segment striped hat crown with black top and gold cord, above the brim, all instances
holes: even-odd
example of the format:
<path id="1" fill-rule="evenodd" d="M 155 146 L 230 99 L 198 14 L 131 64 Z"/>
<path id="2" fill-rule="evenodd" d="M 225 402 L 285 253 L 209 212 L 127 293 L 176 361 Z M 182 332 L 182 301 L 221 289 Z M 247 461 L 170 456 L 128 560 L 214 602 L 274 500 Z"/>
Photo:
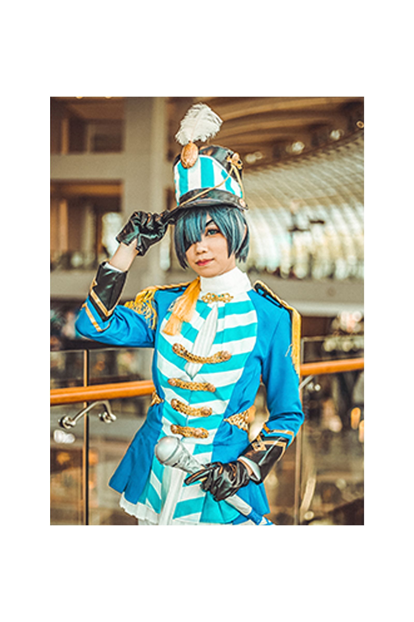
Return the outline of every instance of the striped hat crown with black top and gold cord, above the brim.
<path id="1" fill-rule="evenodd" d="M 241 160 L 224 147 L 202 147 L 197 161 L 184 167 L 174 162 L 177 207 L 227 204 L 246 209 L 241 182 Z"/>

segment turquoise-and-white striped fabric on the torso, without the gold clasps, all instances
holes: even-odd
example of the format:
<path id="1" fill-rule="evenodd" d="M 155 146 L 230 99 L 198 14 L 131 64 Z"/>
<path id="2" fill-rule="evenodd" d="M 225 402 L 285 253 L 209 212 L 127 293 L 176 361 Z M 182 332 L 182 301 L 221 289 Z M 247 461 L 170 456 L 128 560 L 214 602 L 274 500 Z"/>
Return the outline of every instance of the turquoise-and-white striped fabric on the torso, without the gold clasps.
<path id="1" fill-rule="evenodd" d="M 183 323 L 181 333 L 174 336 L 165 335 L 162 330 L 170 315 L 171 313 L 168 313 L 161 324 L 157 348 L 158 379 L 165 400 L 160 438 L 172 435 L 171 424 L 204 428 L 209 433 L 205 439 L 181 438 L 181 435 L 178 437 L 186 445 L 187 450 L 200 463 L 205 464 L 211 462 L 215 433 L 222 423 L 233 389 L 256 343 L 258 326 L 256 310 L 246 292 L 234 295 L 233 300 L 227 303 L 207 304 L 198 300 L 191 322 Z M 201 328 L 208 326 L 211 317 L 215 323 L 215 327 L 210 327 L 209 330 L 211 343 L 205 335 L 201 335 L 201 339 L 197 340 Z M 225 350 L 232 355 L 230 360 L 194 365 L 174 353 L 173 345 L 179 343 L 187 351 L 200 355 L 200 350 L 195 349 L 196 340 L 197 348 L 202 341 L 207 344 L 207 351 L 202 355 L 212 356 Z M 192 371 L 192 375 L 189 374 L 189 370 Z M 215 391 L 192 391 L 171 386 L 168 384 L 169 378 L 210 383 L 215 386 Z M 212 414 L 207 417 L 182 414 L 171 406 L 174 399 L 191 407 L 210 407 Z M 199 483 L 184 485 L 185 477 L 185 473 L 163 466 L 154 458 L 150 478 L 138 504 L 146 506 L 154 514 L 160 514 L 161 509 L 163 513 L 168 511 L 166 508 L 173 498 L 174 511 L 168 524 L 198 524 L 202 514 L 203 524 L 230 522 L 237 516 L 238 513 L 225 501 L 217 503 L 210 495 L 204 493 Z"/>

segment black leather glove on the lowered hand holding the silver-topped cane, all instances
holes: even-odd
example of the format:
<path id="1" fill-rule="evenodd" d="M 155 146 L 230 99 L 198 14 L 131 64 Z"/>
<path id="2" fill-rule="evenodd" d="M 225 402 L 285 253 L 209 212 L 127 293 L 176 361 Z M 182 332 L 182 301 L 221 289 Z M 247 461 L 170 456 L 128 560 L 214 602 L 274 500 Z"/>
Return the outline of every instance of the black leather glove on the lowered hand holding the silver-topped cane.
<path id="1" fill-rule="evenodd" d="M 186 478 L 186 484 L 194 481 L 202 481 L 201 488 L 209 491 L 216 501 L 223 501 L 231 494 L 235 494 L 242 486 L 247 486 L 250 477 L 243 463 L 235 462 L 212 462 L 204 468 Z"/>

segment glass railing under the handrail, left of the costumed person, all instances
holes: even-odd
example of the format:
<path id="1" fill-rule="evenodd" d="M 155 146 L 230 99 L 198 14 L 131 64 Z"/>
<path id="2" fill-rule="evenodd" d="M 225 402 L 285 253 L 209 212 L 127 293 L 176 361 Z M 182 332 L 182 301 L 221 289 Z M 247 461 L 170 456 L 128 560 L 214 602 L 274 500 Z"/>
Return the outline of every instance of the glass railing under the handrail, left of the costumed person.
<path id="1" fill-rule="evenodd" d="M 110 424 L 99 418 L 99 404 L 88 414 L 89 488 L 88 524 L 136 525 L 137 520 L 119 508 L 119 493 L 109 487 L 110 476 L 124 456 L 133 436 L 145 421 L 151 397 L 110 400 L 116 420 Z M 59 421 L 74 418 L 83 403 L 53 406 L 51 409 L 51 524 L 84 524 L 83 441 L 84 417 L 70 430 Z"/>

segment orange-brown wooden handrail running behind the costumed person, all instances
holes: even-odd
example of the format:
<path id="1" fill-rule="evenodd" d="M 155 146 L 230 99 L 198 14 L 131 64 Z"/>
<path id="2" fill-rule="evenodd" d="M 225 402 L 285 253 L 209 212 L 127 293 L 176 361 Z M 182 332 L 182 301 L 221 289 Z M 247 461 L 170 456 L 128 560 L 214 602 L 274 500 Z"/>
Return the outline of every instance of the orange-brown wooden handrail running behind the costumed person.
<path id="1" fill-rule="evenodd" d="M 336 374 L 341 371 L 364 369 L 363 358 L 343 359 L 339 361 L 320 361 L 303 363 L 300 376 L 316 376 L 318 374 Z M 68 387 L 50 390 L 50 406 L 60 404 L 76 404 L 92 402 L 98 399 L 120 399 L 121 397 L 137 397 L 151 395 L 155 386 L 151 380 L 140 380 L 131 383 L 92 384 L 87 387 Z"/>

